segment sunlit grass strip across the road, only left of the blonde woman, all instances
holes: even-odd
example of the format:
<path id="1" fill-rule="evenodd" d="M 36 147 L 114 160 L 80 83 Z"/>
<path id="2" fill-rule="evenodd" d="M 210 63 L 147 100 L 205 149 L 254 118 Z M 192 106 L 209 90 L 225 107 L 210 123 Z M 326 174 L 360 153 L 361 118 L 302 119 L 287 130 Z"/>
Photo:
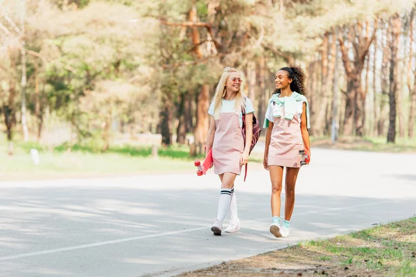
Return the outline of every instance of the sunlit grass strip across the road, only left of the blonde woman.
<path id="1" fill-rule="evenodd" d="M 40 152 L 39 165 L 31 160 L 31 148 Z M 184 146 L 160 148 L 158 157 L 152 157 L 150 147 L 130 145 L 114 146 L 105 153 L 94 145 L 47 148 L 37 143 L 15 143 L 12 156 L 8 156 L 7 149 L 6 143 L 0 145 L 0 179 L 191 172 L 195 170 L 193 161 L 203 159 L 190 157 Z"/>

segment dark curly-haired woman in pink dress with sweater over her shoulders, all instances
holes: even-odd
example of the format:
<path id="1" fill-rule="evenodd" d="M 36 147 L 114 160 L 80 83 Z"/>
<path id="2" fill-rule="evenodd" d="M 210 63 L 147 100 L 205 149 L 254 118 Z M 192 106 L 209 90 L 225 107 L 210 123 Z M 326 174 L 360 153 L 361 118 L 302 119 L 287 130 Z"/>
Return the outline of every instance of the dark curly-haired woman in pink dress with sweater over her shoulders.
<path id="1" fill-rule="evenodd" d="M 309 144 L 309 105 L 305 94 L 305 74 L 299 67 L 283 67 L 275 76 L 276 91 L 268 102 L 263 128 L 267 128 L 263 166 L 272 183 L 272 224 L 276 238 L 289 235 L 289 222 L 295 205 L 295 184 L 304 151 Z M 284 222 L 280 225 L 280 194 L 286 168 Z"/>

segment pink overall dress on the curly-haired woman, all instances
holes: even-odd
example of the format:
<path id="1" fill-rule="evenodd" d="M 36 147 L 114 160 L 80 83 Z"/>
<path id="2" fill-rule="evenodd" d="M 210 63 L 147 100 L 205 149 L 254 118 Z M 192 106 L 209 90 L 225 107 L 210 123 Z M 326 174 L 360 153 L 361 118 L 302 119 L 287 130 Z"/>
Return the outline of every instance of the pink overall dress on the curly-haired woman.
<path id="1" fill-rule="evenodd" d="M 273 118 L 273 129 L 268 150 L 268 166 L 286 166 L 300 168 L 304 150 L 302 132 L 300 132 L 300 116 L 295 113 L 292 120 L 284 118 L 284 107 L 281 117 Z"/>

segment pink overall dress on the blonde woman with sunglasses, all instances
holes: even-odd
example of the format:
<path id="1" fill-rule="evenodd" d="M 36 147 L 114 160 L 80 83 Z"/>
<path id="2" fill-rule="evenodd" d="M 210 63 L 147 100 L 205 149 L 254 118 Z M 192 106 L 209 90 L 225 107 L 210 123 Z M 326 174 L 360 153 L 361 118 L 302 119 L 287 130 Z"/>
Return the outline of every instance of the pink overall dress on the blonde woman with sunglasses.
<path id="1" fill-rule="evenodd" d="M 212 145 L 214 173 L 232 172 L 240 175 L 240 158 L 244 151 L 243 135 L 239 116 L 235 112 L 220 113 L 220 119 L 215 120 L 216 130 Z"/>

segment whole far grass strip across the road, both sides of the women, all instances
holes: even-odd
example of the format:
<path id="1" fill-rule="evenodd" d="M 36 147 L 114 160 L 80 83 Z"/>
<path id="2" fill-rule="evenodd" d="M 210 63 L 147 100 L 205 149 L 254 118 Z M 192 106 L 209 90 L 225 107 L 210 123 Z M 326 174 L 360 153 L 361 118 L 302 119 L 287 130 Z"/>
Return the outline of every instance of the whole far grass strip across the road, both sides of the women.
<path id="1" fill-rule="evenodd" d="M 327 141 L 325 138 L 312 138 L 314 143 Z M 405 152 L 416 151 L 416 140 L 397 139 L 396 145 L 385 144 L 385 139 L 357 139 L 341 138 L 344 146 L 341 149 L 392 151 Z M 345 148 L 345 145 L 351 147 Z M 48 177 L 69 175 L 119 175 L 141 173 L 163 173 L 195 170 L 193 161 L 202 160 L 203 154 L 198 157 L 190 157 L 189 147 L 185 145 L 172 145 L 168 148 L 159 148 L 158 157 L 152 157 L 152 150 L 145 146 L 111 145 L 103 153 L 102 143 L 85 141 L 82 145 L 69 145 L 64 143 L 51 148 L 47 145 L 21 141 L 15 142 L 15 154 L 7 155 L 8 143 L 0 139 L 0 179 L 21 179 L 30 177 Z M 338 146 L 337 146 L 338 147 Z M 40 165 L 35 166 L 31 161 L 30 150 L 35 148 L 40 151 Z M 331 148 L 329 145 L 328 148 Z M 69 151 L 70 150 L 70 151 Z M 262 163 L 263 154 L 254 152 L 249 160 L 253 163 Z M 335 249 L 334 249 L 335 251 Z"/>

